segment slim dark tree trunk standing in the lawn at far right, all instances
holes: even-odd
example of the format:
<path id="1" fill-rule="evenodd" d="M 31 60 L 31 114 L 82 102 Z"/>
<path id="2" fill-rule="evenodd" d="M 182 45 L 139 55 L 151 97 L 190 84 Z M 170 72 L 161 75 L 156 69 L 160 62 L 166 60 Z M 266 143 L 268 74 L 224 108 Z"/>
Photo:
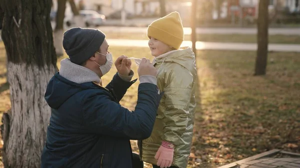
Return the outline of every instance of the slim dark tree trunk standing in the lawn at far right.
<path id="1" fill-rule="evenodd" d="M 254 75 L 265 75 L 268 45 L 268 0 L 259 0 L 257 19 L 257 55 Z"/>

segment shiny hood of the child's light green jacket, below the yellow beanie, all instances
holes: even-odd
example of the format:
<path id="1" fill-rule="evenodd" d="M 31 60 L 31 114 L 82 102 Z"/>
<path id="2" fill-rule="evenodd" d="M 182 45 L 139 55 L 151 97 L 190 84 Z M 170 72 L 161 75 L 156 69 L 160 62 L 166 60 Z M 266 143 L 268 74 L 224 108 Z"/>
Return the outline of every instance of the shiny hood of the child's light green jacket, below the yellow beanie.
<path id="1" fill-rule="evenodd" d="M 155 59 L 156 63 L 175 62 L 186 68 L 193 75 L 196 74 L 195 55 L 190 47 L 180 48 L 179 50 L 165 53 L 164 56 Z"/>

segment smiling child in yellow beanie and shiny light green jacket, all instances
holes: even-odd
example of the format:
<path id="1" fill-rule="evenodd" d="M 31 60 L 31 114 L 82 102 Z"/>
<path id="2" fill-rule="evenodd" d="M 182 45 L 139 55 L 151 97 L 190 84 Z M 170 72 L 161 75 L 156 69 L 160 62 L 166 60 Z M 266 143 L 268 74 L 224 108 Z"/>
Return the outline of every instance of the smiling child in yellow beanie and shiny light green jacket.
<path id="1" fill-rule="evenodd" d="M 138 142 L 141 160 L 153 168 L 186 168 L 193 134 L 197 80 L 191 48 L 179 49 L 183 27 L 178 12 L 153 21 L 147 30 L 163 93 L 151 136 Z"/>

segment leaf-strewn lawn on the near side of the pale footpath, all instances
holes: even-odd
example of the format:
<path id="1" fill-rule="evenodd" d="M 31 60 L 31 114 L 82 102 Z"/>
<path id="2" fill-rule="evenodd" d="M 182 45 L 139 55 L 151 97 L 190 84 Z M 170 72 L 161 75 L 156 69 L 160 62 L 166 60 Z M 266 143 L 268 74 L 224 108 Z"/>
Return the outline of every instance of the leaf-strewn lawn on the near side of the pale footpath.
<path id="1" fill-rule="evenodd" d="M 110 51 L 114 60 L 119 55 L 152 60 L 147 48 L 112 46 Z M 265 76 L 253 76 L 254 61 L 254 51 L 197 51 L 200 87 L 192 153 L 202 164 L 196 166 L 191 158 L 189 168 L 216 168 L 271 149 L 300 152 L 300 53 L 270 52 Z M 3 54 L 0 67 L 1 76 L 6 71 Z M 132 70 L 137 78 L 134 62 Z M 102 77 L 103 85 L 115 72 L 112 67 Z M 5 81 L 5 75 L 0 79 Z M 120 102 L 130 110 L 137 87 L 138 81 Z M 3 112 L 10 106 L 9 90 L 0 95 Z M 136 152 L 135 142 L 131 146 Z"/>

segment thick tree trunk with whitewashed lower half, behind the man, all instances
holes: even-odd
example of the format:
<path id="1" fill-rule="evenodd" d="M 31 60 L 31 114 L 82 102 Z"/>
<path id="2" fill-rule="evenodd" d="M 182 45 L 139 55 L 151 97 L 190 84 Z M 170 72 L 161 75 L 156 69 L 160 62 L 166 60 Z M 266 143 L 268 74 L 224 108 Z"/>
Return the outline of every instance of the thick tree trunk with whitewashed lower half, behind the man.
<path id="1" fill-rule="evenodd" d="M 40 168 L 50 108 L 47 82 L 56 72 L 52 0 L 1 0 L 11 110 L 3 115 L 4 168 Z"/>

